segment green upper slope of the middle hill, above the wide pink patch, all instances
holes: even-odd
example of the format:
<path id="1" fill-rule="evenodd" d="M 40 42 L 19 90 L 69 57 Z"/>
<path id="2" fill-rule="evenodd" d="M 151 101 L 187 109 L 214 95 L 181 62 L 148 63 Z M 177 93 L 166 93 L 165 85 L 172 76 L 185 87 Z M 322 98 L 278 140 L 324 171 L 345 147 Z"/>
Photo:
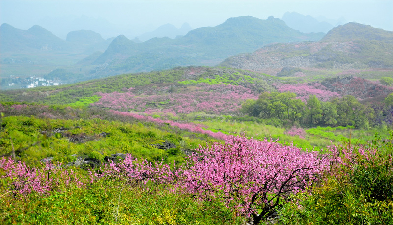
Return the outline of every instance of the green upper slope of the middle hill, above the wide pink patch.
<path id="1" fill-rule="evenodd" d="M 69 104 L 81 98 L 91 97 L 97 92 L 122 92 L 130 87 L 148 84 L 174 83 L 189 79 L 216 78 L 216 75 L 233 75 L 229 79 L 235 81 L 244 76 L 251 76 L 262 80 L 276 79 L 259 73 L 252 73 L 232 68 L 214 67 L 178 67 L 150 73 L 122 74 L 105 79 L 96 79 L 77 84 L 67 84 L 53 87 L 39 87 L 33 89 L 1 91 L 2 101 L 37 102 L 45 104 Z M 221 81 L 219 81 L 221 82 Z M 265 83 L 261 81 L 262 83 Z M 265 85 L 266 86 L 266 85 Z M 267 87 L 266 87 L 267 88 Z"/>

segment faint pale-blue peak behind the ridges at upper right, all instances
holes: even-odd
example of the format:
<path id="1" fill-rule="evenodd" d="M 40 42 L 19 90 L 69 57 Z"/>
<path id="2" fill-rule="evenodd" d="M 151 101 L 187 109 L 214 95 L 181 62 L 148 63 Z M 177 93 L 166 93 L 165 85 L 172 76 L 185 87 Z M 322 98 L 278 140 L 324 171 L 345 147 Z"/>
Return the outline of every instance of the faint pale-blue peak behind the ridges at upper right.
<path id="1" fill-rule="evenodd" d="M 299 30 L 303 33 L 318 33 L 323 32 L 327 33 L 334 26 L 325 21 L 318 21 L 314 17 L 307 15 L 304 16 L 297 12 L 286 12 L 282 16 L 282 20 L 285 21 L 288 27 Z"/>

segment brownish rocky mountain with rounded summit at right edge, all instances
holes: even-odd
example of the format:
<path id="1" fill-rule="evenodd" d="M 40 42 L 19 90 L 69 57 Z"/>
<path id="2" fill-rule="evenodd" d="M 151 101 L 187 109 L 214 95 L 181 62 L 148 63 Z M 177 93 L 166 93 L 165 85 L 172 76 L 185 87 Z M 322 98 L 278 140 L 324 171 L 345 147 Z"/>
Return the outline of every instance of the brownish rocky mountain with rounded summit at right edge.
<path id="1" fill-rule="evenodd" d="M 393 68 L 392 53 L 393 32 L 358 23 L 347 23 L 333 28 L 319 42 L 269 45 L 254 53 L 227 58 L 220 65 L 269 71 L 271 74 L 278 73 L 286 67 Z M 297 71 L 299 70 L 293 70 Z"/>

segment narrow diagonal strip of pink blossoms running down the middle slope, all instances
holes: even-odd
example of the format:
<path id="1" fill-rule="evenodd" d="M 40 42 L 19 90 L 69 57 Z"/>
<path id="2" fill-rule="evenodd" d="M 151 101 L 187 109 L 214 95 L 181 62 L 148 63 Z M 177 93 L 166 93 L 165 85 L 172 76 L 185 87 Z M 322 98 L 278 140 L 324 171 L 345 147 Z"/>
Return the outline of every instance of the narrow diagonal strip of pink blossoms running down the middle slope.
<path id="1" fill-rule="evenodd" d="M 179 122 L 174 122 L 171 120 L 162 120 L 162 119 L 158 119 L 158 118 L 153 118 L 151 116 L 144 116 L 144 115 L 140 115 L 140 114 L 133 113 L 133 112 L 119 112 L 119 111 L 114 111 L 114 110 L 111 110 L 111 112 L 115 115 L 133 117 L 135 119 L 139 119 L 139 120 L 143 120 L 143 121 L 147 121 L 147 122 L 153 122 L 153 123 L 160 124 L 160 125 L 169 124 L 173 127 L 179 128 L 179 129 L 184 129 L 184 130 L 188 130 L 188 131 L 196 132 L 196 133 L 200 133 L 200 134 L 206 134 L 206 135 L 209 135 L 210 137 L 213 137 L 216 139 L 225 139 L 225 137 L 226 137 L 226 135 L 221 132 L 213 132 L 210 130 L 202 129 L 202 127 L 205 127 L 205 126 L 203 126 L 201 124 L 197 125 L 195 123 L 179 123 Z"/>

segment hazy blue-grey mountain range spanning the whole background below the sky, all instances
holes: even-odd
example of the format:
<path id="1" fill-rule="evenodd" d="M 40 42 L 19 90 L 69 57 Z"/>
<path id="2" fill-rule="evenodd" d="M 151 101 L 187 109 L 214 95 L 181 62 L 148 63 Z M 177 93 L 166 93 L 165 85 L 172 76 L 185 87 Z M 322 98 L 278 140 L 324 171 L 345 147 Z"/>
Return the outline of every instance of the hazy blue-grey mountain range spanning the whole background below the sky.
<path id="1" fill-rule="evenodd" d="M 283 19 L 287 21 L 243 16 L 229 18 L 215 27 L 190 31 L 188 24 L 180 29 L 166 24 L 133 40 L 124 35 L 105 40 L 91 30 L 69 32 L 63 40 L 38 25 L 20 30 L 2 24 L 0 75 L 35 73 L 44 76 L 60 68 L 75 75 L 64 81 L 74 82 L 122 73 L 219 63 L 220 66 L 279 75 L 292 71 L 286 68 L 280 73 L 284 67 L 393 67 L 393 32 L 348 23 L 331 29 L 326 35 L 302 28 L 307 31 L 304 33 L 299 31 L 301 26 L 297 27 L 299 30 L 294 29 L 293 24 L 292 28 L 288 26 L 288 20 L 303 21 L 308 28 L 318 27 L 320 20 L 297 13 L 286 13 Z M 37 64 L 40 66 L 35 66 Z M 30 72 L 32 70 L 34 72 Z"/>

